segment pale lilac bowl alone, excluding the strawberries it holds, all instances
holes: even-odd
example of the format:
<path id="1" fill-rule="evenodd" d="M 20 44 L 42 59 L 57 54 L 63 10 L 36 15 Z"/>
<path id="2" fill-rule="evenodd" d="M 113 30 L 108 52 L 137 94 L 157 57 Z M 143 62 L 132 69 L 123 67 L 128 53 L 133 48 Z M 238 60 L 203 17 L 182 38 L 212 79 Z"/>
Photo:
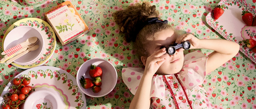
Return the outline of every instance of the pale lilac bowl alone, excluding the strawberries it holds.
<path id="1" fill-rule="evenodd" d="M 81 79 L 81 76 L 92 79 L 89 75 L 91 64 L 97 65 L 102 69 L 102 86 L 100 86 L 102 90 L 98 93 L 94 93 L 92 91 L 92 88 L 89 88 L 89 89 L 83 88 L 81 83 L 79 82 L 79 79 Z M 110 62 L 104 59 L 99 59 L 99 58 L 90 59 L 85 63 L 83 63 L 80 66 L 79 70 L 77 71 L 78 87 L 79 89 L 82 90 L 83 93 L 85 93 L 90 97 L 103 97 L 107 95 L 115 88 L 116 82 L 117 82 L 117 73 L 116 73 L 115 67 Z"/>

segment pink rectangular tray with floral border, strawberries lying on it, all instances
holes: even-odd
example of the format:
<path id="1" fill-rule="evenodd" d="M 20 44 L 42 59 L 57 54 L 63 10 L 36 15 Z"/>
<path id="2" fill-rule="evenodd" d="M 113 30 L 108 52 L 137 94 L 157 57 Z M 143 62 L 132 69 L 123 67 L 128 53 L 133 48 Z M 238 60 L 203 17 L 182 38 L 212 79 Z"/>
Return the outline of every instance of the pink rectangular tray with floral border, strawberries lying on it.
<path id="1" fill-rule="evenodd" d="M 212 31 L 216 30 L 225 39 L 240 44 L 240 51 L 253 62 L 256 62 L 255 53 L 242 42 L 246 39 L 256 40 L 256 27 L 246 26 L 242 20 L 243 11 L 249 11 L 255 16 L 256 10 L 243 0 L 221 0 L 218 4 L 225 5 L 223 15 L 221 15 L 218 20 L 214 20 L 212 10 L 212 12 L 206 16 L 207 24 L 213 28 Z M 246 58 L 244 58 L 243 61 L 245 59 Z"/>

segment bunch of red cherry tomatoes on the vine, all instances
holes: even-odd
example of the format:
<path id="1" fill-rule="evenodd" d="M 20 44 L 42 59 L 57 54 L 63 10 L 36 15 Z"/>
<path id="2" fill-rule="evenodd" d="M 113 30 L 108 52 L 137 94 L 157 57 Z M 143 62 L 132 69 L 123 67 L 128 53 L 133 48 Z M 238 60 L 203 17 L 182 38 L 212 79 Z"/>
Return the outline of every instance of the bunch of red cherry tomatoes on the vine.
<path id="1" fill-rule="evenodd" d="M 30 84 L 29 78 L 22 78 L 22 79 L 15 78 L 13 80 L 13 84 L 15 86 L 12 86 L 12 88 L 15 91 L 13 92 L 13 94 L 9 93 L 9 95 L 11 96 L 11 99 L 8 100 L 7 103 L 2 105 L 3 109 L 19 109 L 19 105 L 25 102 L 24 99 L 29 96 L 29 93 L 32 91 L 35 91 L 35 89 L 32 89 L 32 87 L 29 86 Z"/>

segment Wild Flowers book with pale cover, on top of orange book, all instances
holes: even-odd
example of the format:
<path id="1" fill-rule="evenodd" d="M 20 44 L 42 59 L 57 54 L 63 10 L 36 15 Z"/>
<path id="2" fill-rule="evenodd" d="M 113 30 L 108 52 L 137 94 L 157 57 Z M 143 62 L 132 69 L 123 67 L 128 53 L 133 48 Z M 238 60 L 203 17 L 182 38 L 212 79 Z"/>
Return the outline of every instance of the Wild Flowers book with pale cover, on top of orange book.
<path id="1" fill-rule="evenodd" d="M 84 32 L 67 5 L 47 13 L 46 18 L 62 45 L 68 44 Z"/>

